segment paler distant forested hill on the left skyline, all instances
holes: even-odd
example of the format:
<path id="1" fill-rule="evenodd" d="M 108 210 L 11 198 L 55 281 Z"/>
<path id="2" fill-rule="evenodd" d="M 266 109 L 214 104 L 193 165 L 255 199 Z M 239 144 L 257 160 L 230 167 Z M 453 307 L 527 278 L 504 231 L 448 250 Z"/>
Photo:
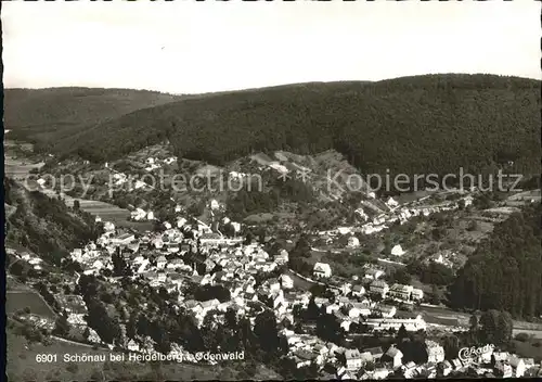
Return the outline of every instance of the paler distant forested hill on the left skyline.
<path id="1" fill-rule="evenodd" d="M 57 141 L 88 126 L 179 97 L 156 91 L 99 88 L 5 89 L 4 126 L 10 138 Z"/>

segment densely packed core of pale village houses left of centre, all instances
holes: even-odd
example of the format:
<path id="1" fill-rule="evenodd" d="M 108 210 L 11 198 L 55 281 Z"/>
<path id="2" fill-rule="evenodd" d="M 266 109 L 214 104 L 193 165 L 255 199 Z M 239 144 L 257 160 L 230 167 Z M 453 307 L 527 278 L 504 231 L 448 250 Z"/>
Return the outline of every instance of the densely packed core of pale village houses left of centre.
<path id="1" fill-rule="evenodd" d="M 204 226 L 190 227 L 192 234 L 189 239 L 185 237 L 189 227 L 185 219 L 180 225 L 182 228 L 173 228 L 167 222 L 164 226 L 166 230 L 163 232 L 147 232 L 136 239 L 133 233 L 119 234 L 113 225 L 106 224 L 104 234 L 95 242 L 74 250 L 72 258 L 81 265 L 86 275 L 102 273 L 104 269 L 114 269 L 112 256 L 119 253 L 131 268 L 133 278 L 146 280 L 152 286 L 164 286 L 169 292 L 180 291 L 186 283 L 227 288 L 232 300 L 224 304 L 214 300 L 191 302 L 179 296 L 180 306 L 192 310 L 198 322 L 209 310 L 224 310 L 229 306 L 250 310 L 246 303 L 261 305 L 269 298 L 270 308 L 275 310 L 278 319 L 293 320 L 283 293 L 293 288 L 293 280 L 287 275 L 268 280 L 259 290 L 254 290 L 257 273 L 272 272 L 288 262 L 285 250 L 271 258 L 259 243 L 243 245 L 243 238 L 224 238 L 209 232 Z M 185 264 L 182 257 L 186 253 L 194 254 L 198 263 Z M 116 282 L 114 277 L 109 280 Z"/>

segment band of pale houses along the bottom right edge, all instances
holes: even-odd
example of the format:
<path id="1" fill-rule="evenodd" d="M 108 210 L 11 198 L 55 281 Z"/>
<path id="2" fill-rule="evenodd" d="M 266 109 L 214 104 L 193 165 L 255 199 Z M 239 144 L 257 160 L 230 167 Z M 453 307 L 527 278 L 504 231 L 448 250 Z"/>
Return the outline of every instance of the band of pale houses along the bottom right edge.
<path id="1" fill-rule="evenodd" d="M 288 345 L 288 356 L 297 368 L 315 365 L 319 370 L 339 380 L 383 380 L 390 378 L 442 378 L 480 375 L 486 378 L 521 378 L 542 375 L 540 365 L 532 358 L 520 358 L 505 352 L 493 352 L 485 346 L 475 357 L 446 359 L 444 348 L 436 341 L 425 341 L 427 359 L 416 364 L 403 361 L 404 354 L 397 344 L 386 352 L 382 347 L 345 348 L 310 334 L 297 334 L 283 329 L 280 332 Z"/>

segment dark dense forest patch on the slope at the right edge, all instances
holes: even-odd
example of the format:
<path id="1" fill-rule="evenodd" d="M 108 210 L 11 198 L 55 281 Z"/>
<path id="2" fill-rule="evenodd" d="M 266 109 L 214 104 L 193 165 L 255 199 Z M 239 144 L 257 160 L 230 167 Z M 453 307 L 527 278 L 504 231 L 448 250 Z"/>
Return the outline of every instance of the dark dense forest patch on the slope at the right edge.
<path id="1" fill-rule="evenodd" d="M 542 315 L 541 204 L 495 227 L 450 288 L 454 307 Z"/>

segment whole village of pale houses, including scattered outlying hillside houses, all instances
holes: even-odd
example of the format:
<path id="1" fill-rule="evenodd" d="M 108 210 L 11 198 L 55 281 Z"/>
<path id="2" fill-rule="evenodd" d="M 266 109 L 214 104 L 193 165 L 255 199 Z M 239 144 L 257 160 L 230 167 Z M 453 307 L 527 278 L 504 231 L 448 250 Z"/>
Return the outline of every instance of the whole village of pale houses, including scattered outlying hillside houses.
<path id="1" fill-rule="evenodd" d="M 172 162 L 175 157 L 170 156 L 165 160 L 147 157 L 145 171 Z M 107 163 L 104 167 L 112 170 Z M 113 173 L 115 186 L 129 182 L 126 174 Z M 246 175 L 232 171 L 230 176 Z M 43 186 L 43 182 L 38 183 Z M 141 189 L 147 187 L 145 184 L 137 181 L 132 188 Z M 453 198 L 443 198 L 440 193 L 399 202 L 392 196 L 380 200 L 370 192 L 354 208 L 354 225 L 310 232 L 310 250 L 331 250 L 339 256 L 349 256 L 349 252 L 360 247 L 360 238 L 378 235 L 414 218 L 429 219 L 439 213 L 472 206 L 477 190 L 448 194 Z M 76 277 L 63 275 L 65 288 L 59 291 L 49 285 L 56 291 L 52 291 L 56 310 L 64 313 L 67 324 L 83 333 L 83 342 L 147 355 L 163 352 L 149 335 L 127 335 L 126 319 L 120 321 L 120 341 L 104 341 L 89 327 L 89 309 L 82 296 L 75 292 L 80 277 L 94 277 L 105 289 L 118 290 L 126 282 L 132 282 L 141 290 L 165 291 L 168 297 L 175 296 L 168 298 L 169 306 L 175 311 L 188 311 L 198 328 L 209 319 L 222 322 L 228 311 L 247 318 L 254 328 L 258 315 L 271 313 L 284 344 L 285 359 L 299 370 L 317 370 L 319 379 L 410 379 L 450 374 L 509 378 L 540 372 L 540 365 L 534 359 L 500 352 L 489 346 L 491 344 L 476 357 L 460 357 L 459 354 L 450 357 L 442 339 L 468 329 L 457 322 L 428 320 L 422 308 L 431 304 L 422 289 L 387 281 L 390 275 L 386 265 L 404 266 L 404 258 L 411 255 L 399 244 L 380 253 L 377 264 L 364 264 L 350 278 L 336 275 L 333 264 L 325 259 L 313 262 L 310 271 L 301 275 L 292 267 L 288 251 L 293 245 L 270 247 L 264 238 L 257 240 L 246 235 L 245 224 L 225 217 L 224 206 L 217 200 L 210 200 L 207 206 L 212 220 L 209 224 L 191 216 L 180 204 L 171 211 L 175 218 L 169 221 L 160 221 L 151 206 L 133 207 L 129 219 L 153 222 L 153 230 L 117 227 L 95 217 L 103 232 L 96 240 L 70 253 L 69 263 L 77 269 Z M 283 229 L 287 232 L 288 227 Z M 293 244 L 291 240 L 289 243 Z M 35 272 L 43 272 L 38 256 L 13 255 L 26 262 Z M 456 267 L 455 256 L 453 251 L 439 252 L 427 262 L 453 268 Z M 199 295 L 208 298 L 186 294 L 190 289 L 204 290 Z M 146 303 L 141 308 L 145 309 Z M 20 318 L 48 331 L 55 328 L 54 321 L 33 314 L 22 314 Z M 422 357 L 410 354 L 417 351 L 405 349 L 401 342 L 405 335 L 412 340 L 420 334 L 423 338 L 416 343 L 422 348 Z M 193 359 L 181 344 L 171 343 L 168 351 L 171 357 Z"/>

